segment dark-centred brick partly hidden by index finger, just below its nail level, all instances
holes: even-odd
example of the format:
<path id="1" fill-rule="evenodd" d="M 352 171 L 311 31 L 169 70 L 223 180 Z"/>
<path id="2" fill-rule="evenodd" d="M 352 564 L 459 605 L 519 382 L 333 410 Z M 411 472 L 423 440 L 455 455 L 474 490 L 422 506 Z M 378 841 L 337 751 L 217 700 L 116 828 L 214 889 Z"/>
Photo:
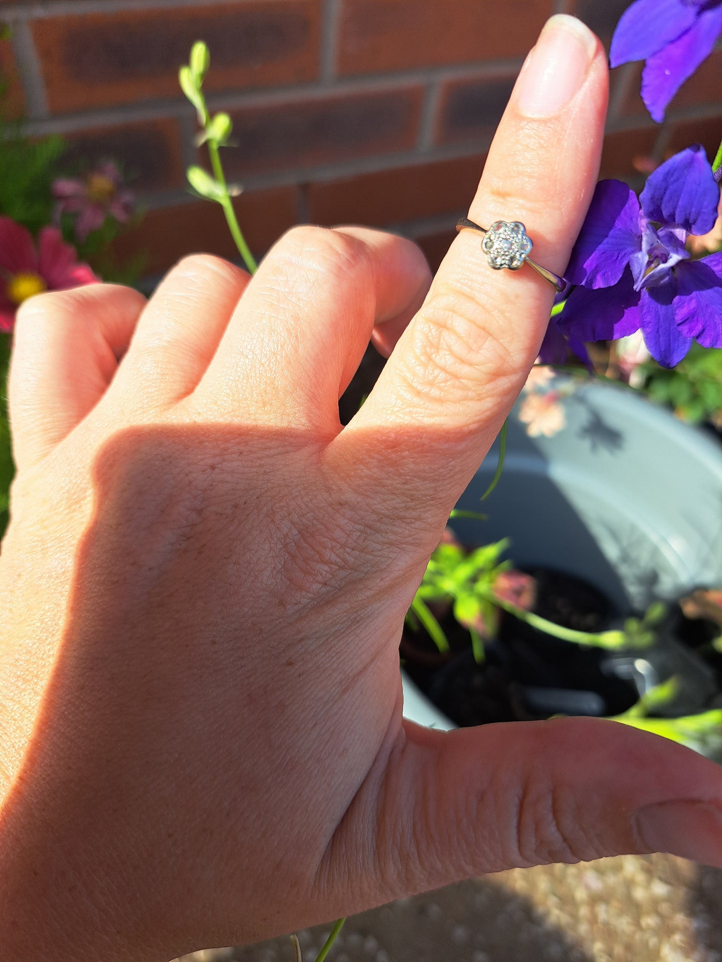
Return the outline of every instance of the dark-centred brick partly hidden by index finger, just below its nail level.
<path id="1" fill-rule="evenodd" d="M 451 80 L 442 90 L 436 141 L 488 139 L 497 129 L 516 77 Z"/>

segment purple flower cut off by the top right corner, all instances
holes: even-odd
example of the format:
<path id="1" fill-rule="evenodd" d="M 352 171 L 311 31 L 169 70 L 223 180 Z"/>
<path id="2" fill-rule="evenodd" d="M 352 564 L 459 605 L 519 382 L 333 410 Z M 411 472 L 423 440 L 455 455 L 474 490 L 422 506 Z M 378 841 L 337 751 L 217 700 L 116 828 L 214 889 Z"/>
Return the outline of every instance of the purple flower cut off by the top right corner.
<path id="1" fill-rule="evenodd" d="M 722 34 L 722 0 L 636 0 L 611 41 L 612 66 L 643 60 L 642 100 L 661 123 L 684 81 Z"/>

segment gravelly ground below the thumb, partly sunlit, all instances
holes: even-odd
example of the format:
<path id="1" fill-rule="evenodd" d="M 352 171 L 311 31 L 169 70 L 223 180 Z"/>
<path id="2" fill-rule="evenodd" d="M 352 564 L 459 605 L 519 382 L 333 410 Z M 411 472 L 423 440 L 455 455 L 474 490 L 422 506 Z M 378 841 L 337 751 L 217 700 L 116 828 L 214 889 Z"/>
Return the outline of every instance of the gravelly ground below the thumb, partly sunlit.
<path id="1" fill-rule="evenodd" d="M 314 962 L 328 932 L 298 933 Z M 183 962 L 293 962 L 288 939 Z M 349 919 L 328 962 L 722 962 L 722 872 L 668 855 L 515 870 Z"/>

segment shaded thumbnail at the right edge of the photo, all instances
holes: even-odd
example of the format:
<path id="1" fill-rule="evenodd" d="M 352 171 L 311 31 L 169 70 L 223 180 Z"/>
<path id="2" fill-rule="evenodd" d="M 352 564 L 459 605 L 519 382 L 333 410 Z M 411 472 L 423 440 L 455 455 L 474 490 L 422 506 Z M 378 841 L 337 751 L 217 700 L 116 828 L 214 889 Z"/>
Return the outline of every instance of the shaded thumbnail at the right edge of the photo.
<path id="1" fill-rule="evenodd" d="M 649 851 L 668 851 L 700 865 L 722 868 L 722 812 L 704 801 L 664 801 L 636 813 Z"/>

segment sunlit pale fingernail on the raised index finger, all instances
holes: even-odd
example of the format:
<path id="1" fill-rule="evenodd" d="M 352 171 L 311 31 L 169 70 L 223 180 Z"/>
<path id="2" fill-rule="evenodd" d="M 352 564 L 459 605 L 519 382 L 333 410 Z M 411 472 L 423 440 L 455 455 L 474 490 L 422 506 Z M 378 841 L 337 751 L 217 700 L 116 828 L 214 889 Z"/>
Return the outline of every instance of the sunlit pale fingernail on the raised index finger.
<path id="1" fill-rule="evenodd" d="M 519 111 L 539 119 L 559 114 L 581 89 L 597 42 L 576 16 L 548 20 L 517 82 Z"/>

